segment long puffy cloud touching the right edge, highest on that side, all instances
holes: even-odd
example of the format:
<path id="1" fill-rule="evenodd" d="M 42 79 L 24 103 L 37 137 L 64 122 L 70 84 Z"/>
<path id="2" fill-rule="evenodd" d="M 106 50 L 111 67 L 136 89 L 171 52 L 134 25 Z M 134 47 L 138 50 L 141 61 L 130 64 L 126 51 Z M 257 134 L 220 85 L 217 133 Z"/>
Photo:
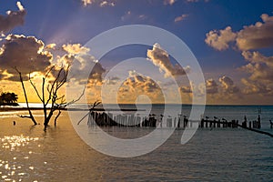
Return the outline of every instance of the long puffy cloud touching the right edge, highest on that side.
<path id="1" fill-rule="evenodd" d="M 230 26 L 210 31 L 205 42 L 217 50 L 226 50 L 230 43 L 236 43 L 241 51 L 270 47 L 273 45 L 273 16 L 263 14 L 260 17 L 263 22 L 245 25 L 238 32 L 232 32 Z"/>

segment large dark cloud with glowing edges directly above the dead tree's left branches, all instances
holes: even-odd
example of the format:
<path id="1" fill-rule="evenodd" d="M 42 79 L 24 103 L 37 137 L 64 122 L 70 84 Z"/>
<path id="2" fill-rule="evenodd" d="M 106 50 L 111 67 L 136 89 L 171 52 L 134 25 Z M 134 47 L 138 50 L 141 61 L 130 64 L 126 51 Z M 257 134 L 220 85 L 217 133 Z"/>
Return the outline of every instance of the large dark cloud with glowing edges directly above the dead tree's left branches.
<path id="1" fill-rule="evenodd" d="M 44 72 L 53 58 L 44 48 L 43 41 L 34 36 L 7 35 L 0 51 L 1 72 L 16 74 L 15 66 L 22 74 Z"/>

